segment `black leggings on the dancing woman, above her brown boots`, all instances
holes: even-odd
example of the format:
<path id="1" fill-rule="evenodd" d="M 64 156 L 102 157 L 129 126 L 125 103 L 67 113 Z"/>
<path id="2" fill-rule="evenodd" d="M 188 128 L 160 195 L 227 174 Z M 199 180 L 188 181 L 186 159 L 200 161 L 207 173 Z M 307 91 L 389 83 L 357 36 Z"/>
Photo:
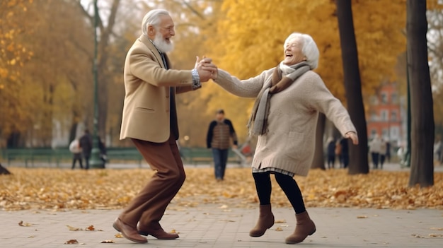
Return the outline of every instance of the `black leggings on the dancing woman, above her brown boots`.
<path id="1" fill-rule="evenodd" d="M 280 188 L 282 188 L 284 194 L 286 194 L 287 199 L 289 199 L 295 213 L 303 213 L 306 211 L 303 196 L 301 196 L 299 185 L 295 182 L 294 178 L 279 172 L 273 172 L 273 174 Z M 270 172 L 258 172 L 252 175 L 254 177 L 255 189 L 257 189 L 260 205 L 270 204 L 272 191 Z"/>

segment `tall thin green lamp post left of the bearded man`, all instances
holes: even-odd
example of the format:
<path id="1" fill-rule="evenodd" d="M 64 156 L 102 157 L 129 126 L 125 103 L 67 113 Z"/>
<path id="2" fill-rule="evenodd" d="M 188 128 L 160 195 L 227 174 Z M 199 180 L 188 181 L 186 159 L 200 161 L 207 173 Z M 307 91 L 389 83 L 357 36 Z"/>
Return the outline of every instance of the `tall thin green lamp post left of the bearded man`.
<path id="1" fill-rule="evenodd" d="M 103 168 L 103 161 L 100 159 L 100 148 L 98 148 L 98 71 L 97 71 L 97 28 L 98 28 L 98 7 L 97 0 L 93 0 L 94 5 L 94 59 L 93 59 L 93 80 L 94 80 L 94 118 L 93 136 L 91 150 L 91 168 Z"/>

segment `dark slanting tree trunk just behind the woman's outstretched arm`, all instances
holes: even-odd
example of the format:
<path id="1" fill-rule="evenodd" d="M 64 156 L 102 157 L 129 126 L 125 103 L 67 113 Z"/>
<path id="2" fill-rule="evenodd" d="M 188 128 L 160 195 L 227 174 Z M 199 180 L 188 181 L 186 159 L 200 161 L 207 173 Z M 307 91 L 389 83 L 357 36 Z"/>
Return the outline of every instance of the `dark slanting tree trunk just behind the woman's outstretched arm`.
<path id="1" fill-rule="evenodd" d="M 347 110 L 352 123 L 357 129 L 358 146 L 350 146 L 350 163 L 348 173 L 367 174 L 369 172 L 367 157 L 367 129 L 364 117 L 362 85 L 360 81 L 357 43 L 355 42 L 354 23 L 352 20 L 351 0 L 336 0 L 340 46 L 342 49 L 343 76 L 347 99 Z"/>

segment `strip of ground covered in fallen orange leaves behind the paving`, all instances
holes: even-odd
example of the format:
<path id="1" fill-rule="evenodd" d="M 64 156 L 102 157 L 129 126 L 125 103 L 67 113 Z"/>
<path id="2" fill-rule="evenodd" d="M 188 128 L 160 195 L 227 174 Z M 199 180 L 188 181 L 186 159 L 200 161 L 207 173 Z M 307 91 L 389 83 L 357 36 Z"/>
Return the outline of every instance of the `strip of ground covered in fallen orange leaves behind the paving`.
<path id="1" fill-rule="evenodd" d="M 93 209 L 124 208 L 154 172 L 131 170 L 67 170 L 10 168 L 0 175 L 0 208 Z M 221 203 L 255 208 L 258 199 L 250 168 L 228 168 L 216 182 L 212 168 L 185 168 L 186 181 L 169 208 Z M 347 175 L 346 170 L 311 170 L 295 177 L 308 207 L 439 208 L 443 209 L 443 173 L 435 172 L 433 187 L 408 187 L 408 172 L 372 171 Z M 272 204 L 289 207 L 272 177 Z"/>

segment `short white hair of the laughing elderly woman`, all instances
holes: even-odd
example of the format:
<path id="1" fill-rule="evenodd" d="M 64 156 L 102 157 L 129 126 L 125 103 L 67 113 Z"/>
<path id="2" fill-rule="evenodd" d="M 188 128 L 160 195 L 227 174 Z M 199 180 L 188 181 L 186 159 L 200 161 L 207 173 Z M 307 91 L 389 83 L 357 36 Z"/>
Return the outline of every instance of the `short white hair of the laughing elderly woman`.
<path id="1" fill-rule="evenodd" d="M 302 33 L 292 33 L 286 40 L 284 40 L 283 49 L 286 49 L 287 44 L 291 40 L 297 40 L 301 42 L 301 53 L 306 57 L 306 63 L 309 64 L 311 70 L 316 69 L 318 66 L 318 47 L 316 42 L 313 41 L 311 35 L 306 35 Z"/>

